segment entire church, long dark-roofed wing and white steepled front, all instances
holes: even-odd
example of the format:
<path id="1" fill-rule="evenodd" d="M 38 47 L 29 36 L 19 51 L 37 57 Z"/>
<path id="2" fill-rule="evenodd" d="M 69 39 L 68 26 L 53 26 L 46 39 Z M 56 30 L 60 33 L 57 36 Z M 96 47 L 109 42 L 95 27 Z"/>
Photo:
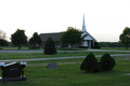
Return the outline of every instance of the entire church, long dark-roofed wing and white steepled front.
<path id="1" fill-rule="evenodd" d="M 39 35 L 40 35 L 40 38 L 42 40 L 41 46 L 44 46 L 47 39 L 49 37 L 51 37 L 53 39 L 53 41 L 55 42 L 55 47 L 56 48 L 60 48 L 60 47 L 70 47 L 69 45 L 65 46 L 65 45 L 62 45 L 60 43 L 60 39 L 61 39 L 62 33 L 63 32 L 40 33 Z M 82 46 L 82 47 L 91 48 L 92 46 L 94 46 L 94 42 L 96 42 L 96 40 L 86 29 L 84 15 L 83 15 L 83 24 L 82 24 L 82 30 L 81 30 L 81 38 L 83 38 L 83 41 L 81 42 L 81 44 L 80 45 L 76 44 L 76 45 L 74 45 L 74 47 Z"/>

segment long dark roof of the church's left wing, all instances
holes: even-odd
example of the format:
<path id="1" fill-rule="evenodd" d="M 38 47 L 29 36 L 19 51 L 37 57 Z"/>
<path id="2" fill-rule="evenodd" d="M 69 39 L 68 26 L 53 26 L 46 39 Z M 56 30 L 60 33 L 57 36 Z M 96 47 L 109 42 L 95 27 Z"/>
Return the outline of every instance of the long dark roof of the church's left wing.
<path id="1" fill-rule="evenodd" d="M 63 32 L 41 33 L 39 34 L 39 37 L 41 38 L 42 41 L 47 41 L 49 37 L 51 37 L 53 41 L 60 41 L 62 34 Z"/>

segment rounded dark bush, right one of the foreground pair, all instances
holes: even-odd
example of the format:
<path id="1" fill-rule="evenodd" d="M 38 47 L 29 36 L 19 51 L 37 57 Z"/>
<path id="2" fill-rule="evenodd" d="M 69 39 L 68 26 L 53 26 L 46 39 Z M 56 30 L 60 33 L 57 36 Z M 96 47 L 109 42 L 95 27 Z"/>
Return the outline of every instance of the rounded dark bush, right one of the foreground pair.
<path id="1" fill-rule="evenodd" d="M 115 59 L 109 55 L 109 54 L 104 54 L 101 58 L 101 61 L 107 62 L 107 64 L 105 66 L 105 69 L 112 70 L 114 68 L 115 63 Z"/>

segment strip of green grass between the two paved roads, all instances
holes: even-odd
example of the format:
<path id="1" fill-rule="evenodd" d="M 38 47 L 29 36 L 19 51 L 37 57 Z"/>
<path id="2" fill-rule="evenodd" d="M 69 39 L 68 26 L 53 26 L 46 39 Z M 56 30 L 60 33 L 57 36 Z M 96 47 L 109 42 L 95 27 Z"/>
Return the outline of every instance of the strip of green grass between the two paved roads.
<path id="1" fill-rule="evenodd" d="M 0 60 L 3 59 L 26 59 L 26 58 L 54 58 L 54 57 L 74 57 L 74 56 L 87 56 L 90 52 L 74 52 L 74 53 L 57 53 L 55 55 L 44 55 L 43 53 L 34 53 L 34 54 L 0 54 Z M 93 52 L 94 55 L 103 55 L 107 52 Z M 118 53 L 109 52 L 108 54 L 128 54 L 128 53 Z"/>

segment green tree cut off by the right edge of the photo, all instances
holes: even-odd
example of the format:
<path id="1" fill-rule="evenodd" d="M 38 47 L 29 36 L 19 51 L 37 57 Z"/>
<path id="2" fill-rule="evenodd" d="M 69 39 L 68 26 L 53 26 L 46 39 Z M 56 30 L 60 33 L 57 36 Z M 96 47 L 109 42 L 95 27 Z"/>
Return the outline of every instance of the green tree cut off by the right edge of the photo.
<path id="1" fill-rule="evenodd" d="M 126 45 L 128 49 L 128 44 L 130 44 L 130 28 L 126 27 L 122 33 L 119 35 L 119 41 Z"/>

